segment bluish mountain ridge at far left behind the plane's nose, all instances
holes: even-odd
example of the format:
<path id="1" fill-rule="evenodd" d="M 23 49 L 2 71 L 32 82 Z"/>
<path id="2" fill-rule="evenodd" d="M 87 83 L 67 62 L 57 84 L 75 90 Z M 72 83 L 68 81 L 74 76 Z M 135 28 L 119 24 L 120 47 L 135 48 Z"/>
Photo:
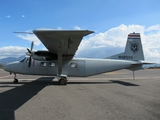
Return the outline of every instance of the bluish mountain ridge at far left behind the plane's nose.
<path id="1" fill-rule="evenodd" d="M 6 65 L 7 63 L 13 62 L 13 61 L 19 61 L 22 60 L 25 56 L 20 56 L 18 58 L 16 57 L 7 57 L 7 58 L 3 58 L 0 59 L 0 64 L 1 65 Z"/>

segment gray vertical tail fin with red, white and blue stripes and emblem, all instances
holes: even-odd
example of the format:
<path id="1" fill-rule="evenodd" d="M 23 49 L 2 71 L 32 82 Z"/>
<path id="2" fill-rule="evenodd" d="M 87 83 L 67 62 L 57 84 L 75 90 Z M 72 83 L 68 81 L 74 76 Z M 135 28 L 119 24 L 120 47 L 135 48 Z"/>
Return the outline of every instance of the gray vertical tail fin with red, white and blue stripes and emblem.
<path id="1" fill-rule="evenodd" d="M 144 60 L 140 33 L 128 34 L 125 51 L 123 53 L 107 57 L 107 59 L 122 59 L 134 61 Z"/>

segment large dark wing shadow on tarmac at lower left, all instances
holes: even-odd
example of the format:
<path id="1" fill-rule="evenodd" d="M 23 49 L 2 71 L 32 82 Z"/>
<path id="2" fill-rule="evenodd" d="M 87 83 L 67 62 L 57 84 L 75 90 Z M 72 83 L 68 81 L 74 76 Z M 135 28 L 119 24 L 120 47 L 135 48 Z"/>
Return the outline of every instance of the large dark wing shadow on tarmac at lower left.
<path id="1" fill-rule="evenodd" d="M 21 86 L 14 86 L 15 88 L 0 93 L 0 120 L 15 120 L 14 112 L 39 91 L 46 87 L 54 78 L 41 77 L 32 82 L 19 82 Z M 0 84 L 10 84 L 8 82 L 0 82 Z M 2 86 L 2 87 L 5 87 Z M 10 86 L 6 86 L 10 87 Z"/>

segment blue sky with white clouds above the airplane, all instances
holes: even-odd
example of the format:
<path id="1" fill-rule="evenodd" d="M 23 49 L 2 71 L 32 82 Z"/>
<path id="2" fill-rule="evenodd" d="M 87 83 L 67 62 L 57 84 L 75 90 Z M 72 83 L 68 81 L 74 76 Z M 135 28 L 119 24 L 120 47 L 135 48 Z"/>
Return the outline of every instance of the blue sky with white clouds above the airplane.
<path id="1" fill-rule="evenodd" d="M 104 58 L 124 51 L 127 35 L 140 33 L 146 61 L 160 63 L 159 0 L 0 0 L 0 59 L 46 50 L 35 29 L 92 30 L 75 57 Z"/>

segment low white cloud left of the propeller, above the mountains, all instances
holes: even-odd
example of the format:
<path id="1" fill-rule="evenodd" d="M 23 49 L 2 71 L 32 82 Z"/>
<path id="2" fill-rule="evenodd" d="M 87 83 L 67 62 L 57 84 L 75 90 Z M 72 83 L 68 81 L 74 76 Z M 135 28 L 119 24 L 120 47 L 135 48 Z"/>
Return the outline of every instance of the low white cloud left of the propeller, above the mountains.
<path id="1" fill-rule="evenodd" d="M 0 59 L 6 57 L 20 57 L 25 55 L 27 52 L 26 48 L 19 46 L 5 46 L 0 48 Z"/>

